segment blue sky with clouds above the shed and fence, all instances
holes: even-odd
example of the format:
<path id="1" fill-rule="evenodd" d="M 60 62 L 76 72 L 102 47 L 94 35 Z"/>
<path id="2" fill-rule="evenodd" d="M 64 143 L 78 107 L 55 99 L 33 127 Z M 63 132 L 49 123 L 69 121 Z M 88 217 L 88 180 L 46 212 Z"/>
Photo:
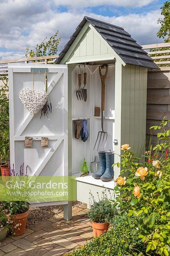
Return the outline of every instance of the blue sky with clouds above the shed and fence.
<path id="1" fill-rule="evenodd" d="M 59 30 L 58 54 L 84 16 L 123 27 L 140 45 L 157 37 L 163 0 L 0 0 L 0 60 L 24 58 Z"/>

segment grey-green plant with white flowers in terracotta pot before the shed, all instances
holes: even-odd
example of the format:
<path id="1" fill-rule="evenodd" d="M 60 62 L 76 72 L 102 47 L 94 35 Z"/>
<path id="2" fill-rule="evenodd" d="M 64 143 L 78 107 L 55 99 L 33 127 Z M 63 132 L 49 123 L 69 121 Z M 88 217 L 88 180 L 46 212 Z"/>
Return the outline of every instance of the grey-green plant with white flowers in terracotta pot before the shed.
<path id="1" fill-rule="evenodd" d="M 98 194 L 98 201 L 94 199 L 90 191 L 90 210 L 87 216 L 90 218 L 93 228 L 93 235 L 100 236 L 106 232 L 109 228 L 109 221 L 113 219 L 116 214 L 115 210 L 110 204 L 110 200 L 107 197 L 107 190 L 103 189 L 101 192 L 101 197 Z"/>

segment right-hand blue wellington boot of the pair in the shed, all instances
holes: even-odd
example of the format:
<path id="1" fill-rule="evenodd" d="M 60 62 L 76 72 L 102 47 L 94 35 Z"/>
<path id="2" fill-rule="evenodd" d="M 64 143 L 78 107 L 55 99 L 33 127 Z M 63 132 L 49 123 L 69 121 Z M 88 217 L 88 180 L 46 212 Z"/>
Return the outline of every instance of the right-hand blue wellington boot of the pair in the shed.
<path id="1" fill-rule="evenodd" d="M 109 181 L 114 177 L 114 170 L 113 170 L 112 164 L 114 164 L 114 153 L 108 152 L 106 153 L 106 171 L 100 177 L 100 180 Z"/>

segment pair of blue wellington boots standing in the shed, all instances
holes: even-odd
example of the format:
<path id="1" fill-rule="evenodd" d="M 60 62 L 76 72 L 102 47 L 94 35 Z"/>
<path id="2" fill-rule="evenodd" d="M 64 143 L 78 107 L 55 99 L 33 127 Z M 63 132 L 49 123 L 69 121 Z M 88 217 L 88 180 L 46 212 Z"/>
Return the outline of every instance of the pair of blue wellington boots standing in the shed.
<path id="1" fill-rule="evenodd" d="M 112 165 L 114 164 L 114 152 L 101 151 L 99 152 L 100 169 L 97 173 L 92 175 L 95 179 L 102 181 L 109 181 L 114 177 L 114 170 Z"/>

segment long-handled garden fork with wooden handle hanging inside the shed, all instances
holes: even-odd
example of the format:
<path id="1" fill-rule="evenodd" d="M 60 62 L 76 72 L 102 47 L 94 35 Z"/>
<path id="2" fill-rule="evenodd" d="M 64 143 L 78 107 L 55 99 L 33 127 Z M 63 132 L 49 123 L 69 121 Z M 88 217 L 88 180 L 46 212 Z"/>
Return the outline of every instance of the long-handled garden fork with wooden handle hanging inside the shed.
<path id="1" fill-rule="evenodd" d="M 103 68 L 106 68 L 105 75 L 101 74 L 101 69 L 103 69 Z M 105 144 L 104 144 L 104 148 L 105 148 L 106 142 L 107 142 L 107 137 L 108 137 L 108 132 L 105 132 L 105 130 L 104 130 L 105 81 L 106 81 L 107 73 L 108 73 L 108 65 L 107 64 L 103 64 L 102 66 L 99 66 L 99 74 L 100 74 L 100 78 L 101 78 L 101 129 L 102 129 L 102 131 L 98 132 L 97 140 L 96 140 L 94 148 L 93 148 L 93 150 L 94 150 L 96 147 L 97 141 L 100 137 L 97 151 L 98 151 L 99 147 L 100 147 L 100 151 L 101 151 L 101 148 L 102 148 L 104 142 L 105 142 Z M 103 139 L 102 139 L 102 135 L 103 135 Z M 102 140 L 102 142 L 101 142 L 101 140 Z M 101 142 L 101 146 L 100 146 L 100 142 Z M 104 150 L 104 148 L 103 148 L 103 150 Z"/>

